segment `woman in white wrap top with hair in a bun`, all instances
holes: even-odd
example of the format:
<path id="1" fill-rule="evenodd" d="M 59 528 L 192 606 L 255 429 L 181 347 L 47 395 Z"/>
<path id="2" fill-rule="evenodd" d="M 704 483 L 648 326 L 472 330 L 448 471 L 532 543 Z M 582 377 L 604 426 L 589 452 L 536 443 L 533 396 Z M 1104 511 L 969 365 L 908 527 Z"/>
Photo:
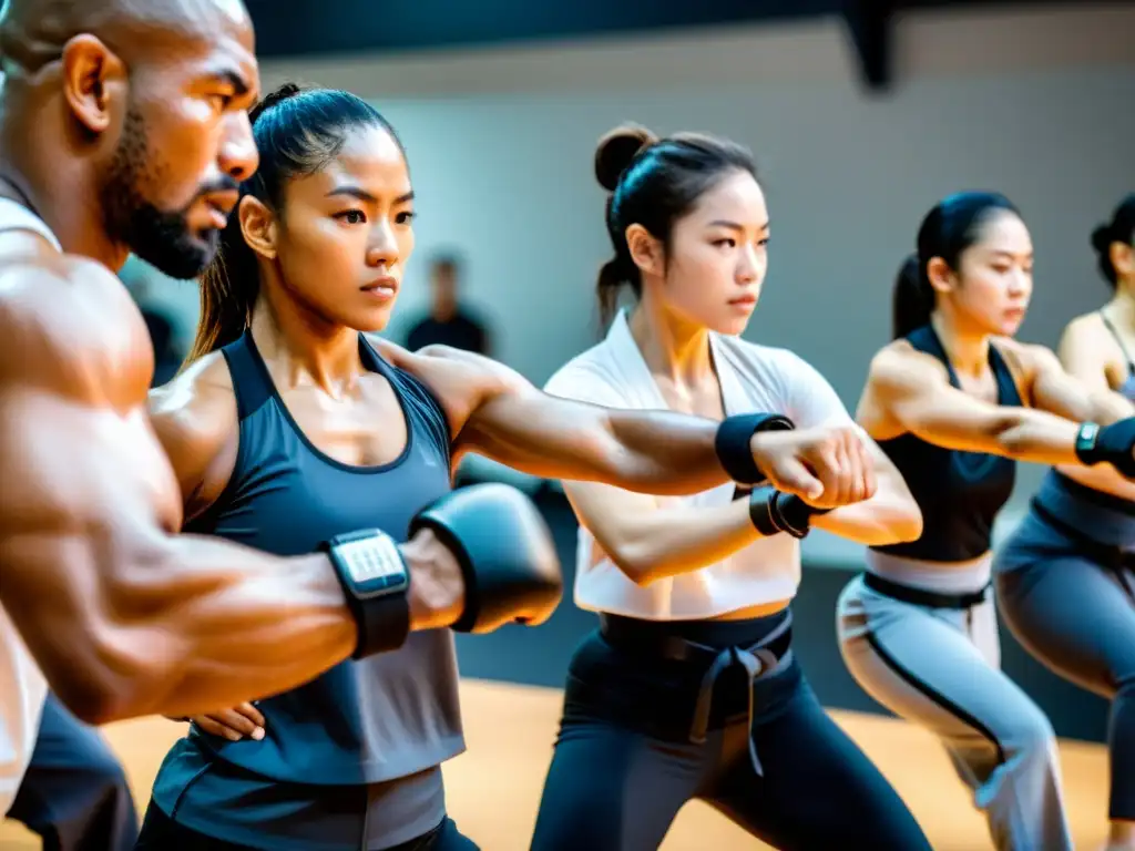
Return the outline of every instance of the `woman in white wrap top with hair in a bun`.
<path id="1" fill-rule="evenodd" d="M 766 268 L 768 216 L 751 157 L 713 137 L 658 141 L 630 127 L 600 142 L 596 172 L 612 193 L 615 248 L 599 295 L 609 307 L 629 284 L 639 303 L 546 389 L 833 428 L 871 460 L 877 488 L 826 513 L 771 488 L 663 498 L 564 482 L 581 524 L 575 601 L 600 613 L 602 626 L 570 666 L 532 848 L 655 849 L 695 798 L 776 848 L 930 848 L 792 658 L 798 539 L 809 524 L 889 542 L 917 538 L 922 522 L 901 477 L 819 373 L 737 337 Z"/>

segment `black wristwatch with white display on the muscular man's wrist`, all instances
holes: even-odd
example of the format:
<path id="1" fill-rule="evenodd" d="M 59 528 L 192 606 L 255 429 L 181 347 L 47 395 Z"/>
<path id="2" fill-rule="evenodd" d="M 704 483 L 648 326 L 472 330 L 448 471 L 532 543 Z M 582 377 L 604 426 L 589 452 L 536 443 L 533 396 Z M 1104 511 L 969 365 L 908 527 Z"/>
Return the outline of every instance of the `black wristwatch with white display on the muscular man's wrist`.
<path id="1" fill-rule="evenodd" d="M 410 635 L 410 570 L 398 545 L 379 529 L 361 529 L 322 546 L 359 624 L 352 658 L 396 650 Z"/>

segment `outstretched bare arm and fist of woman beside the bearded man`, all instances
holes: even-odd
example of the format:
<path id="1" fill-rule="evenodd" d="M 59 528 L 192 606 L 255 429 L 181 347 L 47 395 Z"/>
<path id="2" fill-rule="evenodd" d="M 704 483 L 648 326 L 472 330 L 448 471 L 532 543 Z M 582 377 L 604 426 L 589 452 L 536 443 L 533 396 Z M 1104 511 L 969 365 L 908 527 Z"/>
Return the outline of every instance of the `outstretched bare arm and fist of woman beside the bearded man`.
<path id="1" fill-rule="evenodd" d="M 730 480 L 718 452 L 722 423 L 714 420 L 562 398 L 469 352 L 428 346 L 409 353 L 385 340 L 375 343 L 434 390 L 449 416 L 456 454 L 473 452 L 532 475 L 641 494 L 693 494 Z M 782 490 L 825 507 L 850 498 L 841 495 L 849 474 L 815 450 L 822 436 L 767 431 L 742 440 L 740 447 L 723 443 L 733 446 L 729 454 L 745 455 Z M 873 491 L 874 482 L 861 479 L 857 487 Z"/>

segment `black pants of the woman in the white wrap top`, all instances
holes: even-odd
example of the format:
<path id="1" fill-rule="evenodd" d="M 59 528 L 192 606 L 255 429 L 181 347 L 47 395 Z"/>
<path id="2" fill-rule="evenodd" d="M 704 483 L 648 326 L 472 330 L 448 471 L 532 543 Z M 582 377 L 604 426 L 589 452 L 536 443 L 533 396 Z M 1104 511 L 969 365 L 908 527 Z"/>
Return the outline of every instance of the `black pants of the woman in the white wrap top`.
<path id="1" fill-rule="evenodd" d="M 749 647 L 783 616 L 666 629 L 713 648 Z M 602 632 L 583 642 L 569 669 L 533 851 L 649 851 L 691 799 L 779 849 L 928 851 L 899 795 L 790 657 L 751 685 L 751 722 L 749 679 L 740 665 L 725 669 L 706 739 L 690 741 L 706 671 L 612 647 Z"/>

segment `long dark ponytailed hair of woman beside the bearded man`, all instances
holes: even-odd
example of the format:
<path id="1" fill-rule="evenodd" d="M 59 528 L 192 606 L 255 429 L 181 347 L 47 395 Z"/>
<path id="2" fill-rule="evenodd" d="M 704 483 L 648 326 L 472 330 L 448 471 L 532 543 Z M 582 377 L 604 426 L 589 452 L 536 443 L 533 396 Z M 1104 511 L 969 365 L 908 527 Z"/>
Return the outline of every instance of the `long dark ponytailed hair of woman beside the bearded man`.
<path id="1" fill-rule="evenodd" d="M 241 197 L 252 195 L 283 214 L 284 187 L 314 174 L 333 160 L 354 127 L 377 126 L 397 142 L 394 128 L 360 98 L 333 89 L 302 90 L 285 83 L 249 111 L 260 153 L 257 172 L 241 185 Z M 239 205 L 238 205 L 239 207 Z M 201 276 L 201 314 L 186 363 L 233 343 L 252 321 L 260 295 L 257 254 L 244 241 L 238 207 L 228 217 L 213 262 Z"/>

